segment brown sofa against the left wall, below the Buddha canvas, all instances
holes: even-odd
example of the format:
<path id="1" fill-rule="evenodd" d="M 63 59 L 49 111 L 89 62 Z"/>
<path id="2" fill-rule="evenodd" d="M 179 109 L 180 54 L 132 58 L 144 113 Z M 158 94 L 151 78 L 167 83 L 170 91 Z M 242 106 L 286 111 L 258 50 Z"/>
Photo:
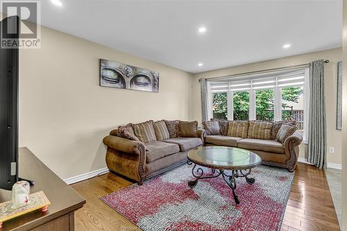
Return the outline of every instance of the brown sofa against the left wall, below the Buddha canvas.
<path id="1" fill-rule="evenodd" d="M 190 122 L 190 127 L 184 127 L 185 123 L 189 122 L 146 121 L 112 130 L 103 139 L 108 169 L 142 185 L 144 180 L 186 163 L 188 151 L 203 145 L 204 134 L 197 128 L 198 122 Z M 146 129 L 141 128 L 143 124 Z"/>

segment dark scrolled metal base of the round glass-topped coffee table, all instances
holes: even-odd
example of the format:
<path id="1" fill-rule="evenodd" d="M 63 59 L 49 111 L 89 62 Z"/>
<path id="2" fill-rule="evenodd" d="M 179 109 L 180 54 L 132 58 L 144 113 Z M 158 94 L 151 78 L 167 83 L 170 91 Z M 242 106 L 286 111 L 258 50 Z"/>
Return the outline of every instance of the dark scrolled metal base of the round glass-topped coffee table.
<path id="1" fill-rule="evenodd" d="M 192 162 L 188 162 L 189 165 L 192 165 Z M 195 180 L 189 181 L 188 186 L 191 188 L 194 188 L 196 184 L 198 184 L 198 180 L 200 179 L 207 179 L 207 178 L 217 178 L 219 176 L 223 177 L 223 180 L 229 185 L 229 187 L 232 189 L 232 196 L 234 196 L 235 203 L 239 204 L 239 197 L 235 193 L 236 189 L 236 178 L 244 177 L 246 178 L 246 182 L 250 185 L 253 185 L 255 182 L 254 178 L 248 178 L 248 175 L 251 174 L 251 169 L 245 170 L 231 170 L 231 175 L 228 175 L 223 169 L 212 169 L 212 176 L 203 176 L 203 169 L 198 167 L 196 169 L 196 173 L 194 170 L 196 169 L 196 164 L 194 164 L 194 167 L 192 169 L 192 174 Z"/>

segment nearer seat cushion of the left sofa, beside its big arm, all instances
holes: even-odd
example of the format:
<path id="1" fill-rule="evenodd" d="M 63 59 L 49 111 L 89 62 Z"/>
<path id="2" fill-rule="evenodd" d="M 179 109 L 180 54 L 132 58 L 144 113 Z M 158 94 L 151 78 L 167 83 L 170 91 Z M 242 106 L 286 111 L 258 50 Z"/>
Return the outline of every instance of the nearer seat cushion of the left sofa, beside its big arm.
<path id="1" fill-rule="evenodd" d="M 146 152 L 146 163 L 151 163 L 155 160 L 159 160 L 162 157 L 178 153 L 180 148 L 177 144 L 170 144 L 160 141 L 155 141 L 146 144 L 146 148 L 149 148 L 149 152 Z"/>

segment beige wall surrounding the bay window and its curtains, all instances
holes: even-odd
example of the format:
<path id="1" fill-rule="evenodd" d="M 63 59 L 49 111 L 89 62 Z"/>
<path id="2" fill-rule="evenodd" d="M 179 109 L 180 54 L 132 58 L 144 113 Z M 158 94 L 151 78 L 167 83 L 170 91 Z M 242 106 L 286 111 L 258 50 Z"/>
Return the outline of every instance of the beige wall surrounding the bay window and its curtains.
<path id="1" fill-rule="evenodd" d="M 273 69 L 278 67 L 289 67 L 293 65 L 302 65 L 319 59 L 330 60 L 329 64 L 324 67 L 325 75 L 325 95 L 327 111 L 327 130 L 328 130 L 328 147 L 335 147 L 335 153 L 328 153 L 328 162 L 341 164 L 341 131 L 336 130 L 336 94 L 337 94 L 337 62 L 342 60 L 342 49 L 330 49 L 327 51 L 307 53 L 304 55 L 295 55 L 287 58 L 268 60 L 264 62 L 255 62 L 249 65 L 229 67 L 214 71 L 206 71 L 194 75 L 193 85 L 193 102 L 192 117 L 201 121 L 201 97 L 199 78 L 212 78 L 217 76 L 226 76 L 231 74 L 240 74 L 248 71 L 260 71 L 264 69 Z M 301 157 L 305 157 L 305 145 L 301 145 Z"/>

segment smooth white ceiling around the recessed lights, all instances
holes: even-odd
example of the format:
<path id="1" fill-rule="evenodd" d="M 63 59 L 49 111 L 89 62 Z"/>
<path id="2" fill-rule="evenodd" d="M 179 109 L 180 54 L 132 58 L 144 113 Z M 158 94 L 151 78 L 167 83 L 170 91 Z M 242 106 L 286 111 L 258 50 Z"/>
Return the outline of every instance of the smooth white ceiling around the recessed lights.
<path id="1" fill-rule="evenodd" d="M 341 0 L 60 1 L 41 1 L 44 26 L 192 73 L 331 49 L 342 40 Z"/>

